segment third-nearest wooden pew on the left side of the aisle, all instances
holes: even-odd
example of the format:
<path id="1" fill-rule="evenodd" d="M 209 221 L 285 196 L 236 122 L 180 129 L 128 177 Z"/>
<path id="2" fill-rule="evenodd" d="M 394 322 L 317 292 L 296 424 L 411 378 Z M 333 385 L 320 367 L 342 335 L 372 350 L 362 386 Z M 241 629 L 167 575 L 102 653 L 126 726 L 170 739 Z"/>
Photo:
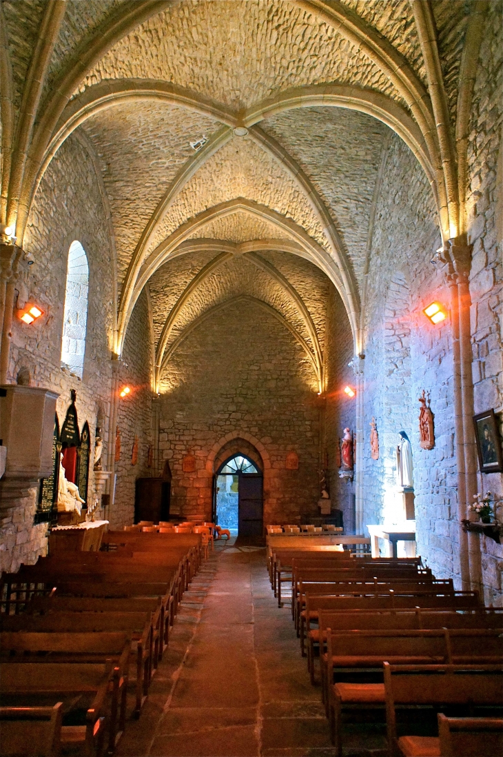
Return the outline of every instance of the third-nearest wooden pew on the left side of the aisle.
<path id="1" fill-rule="evenodd" d="M 105 633 L 3 631 L 0 633 L 2 663 L 113 663 L 114 671 L 116 673 L 118 671 L 118 684 L 110 708 L 109 749 L 111 751 L 126 727 L 130 647 L 131 637 L 116 631 Z"/>

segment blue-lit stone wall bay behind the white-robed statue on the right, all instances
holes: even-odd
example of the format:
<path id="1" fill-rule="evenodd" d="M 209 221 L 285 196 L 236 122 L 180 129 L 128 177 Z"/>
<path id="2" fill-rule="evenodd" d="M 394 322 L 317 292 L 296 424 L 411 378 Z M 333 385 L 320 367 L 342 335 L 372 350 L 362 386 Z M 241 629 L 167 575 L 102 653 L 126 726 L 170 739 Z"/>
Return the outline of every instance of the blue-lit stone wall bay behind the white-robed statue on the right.
<path id="1" fill-rule="evenodd" d="M 422 313 L 431 301 L 449 306 L 449 292 L 430 264 L 440 238 L 427 179 L 393 136 L 377 201 L 365 313 L 364 522 L 399 518 L 396 444 L 404 430 L 414 463 L 418 553 L 439 576 L 459 581 L 452 335 Z M 419 403 L 430 391 L 433 450 L 419 447 Z M 376 418 L 378 460 L 370 456 L 368 422 Z"/>

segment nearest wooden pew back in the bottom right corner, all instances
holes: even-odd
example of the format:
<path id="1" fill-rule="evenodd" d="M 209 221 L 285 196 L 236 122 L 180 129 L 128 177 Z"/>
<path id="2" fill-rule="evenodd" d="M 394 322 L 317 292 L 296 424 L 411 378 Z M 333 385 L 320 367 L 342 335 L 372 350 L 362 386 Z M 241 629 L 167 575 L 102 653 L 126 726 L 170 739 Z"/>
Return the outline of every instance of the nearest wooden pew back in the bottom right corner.
<path id="1" fill-rule="evenodd" d="M 446 718 L 438 714 L 440 757 L 494 757 L 503 754 L 500 718 Z"/>

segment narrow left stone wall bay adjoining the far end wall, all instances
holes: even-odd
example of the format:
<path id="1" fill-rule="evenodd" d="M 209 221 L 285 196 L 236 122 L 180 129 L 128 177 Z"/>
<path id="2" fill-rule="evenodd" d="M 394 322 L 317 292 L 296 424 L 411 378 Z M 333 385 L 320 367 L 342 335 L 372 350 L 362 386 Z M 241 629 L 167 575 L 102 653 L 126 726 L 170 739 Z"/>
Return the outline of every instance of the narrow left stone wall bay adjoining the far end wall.
<path id="1" fill-rule="evenodd" d="M 120 431 L 120 460 L 116 461 L 115 502 L 110 508 L 110 525 L 122 528 L 132 523 L 135 513 L 135 481 L 151 475 L 148 450 L 152 443 L 151 412 L 151 341 L 148 323 L 147 295 L 141 292 L 129 321 L 120 366 L 119 391 L 130 388 L 119 400 L 117 428 Z M 133 446 L 138 441 L 138 458 L 133 464 Z"/>

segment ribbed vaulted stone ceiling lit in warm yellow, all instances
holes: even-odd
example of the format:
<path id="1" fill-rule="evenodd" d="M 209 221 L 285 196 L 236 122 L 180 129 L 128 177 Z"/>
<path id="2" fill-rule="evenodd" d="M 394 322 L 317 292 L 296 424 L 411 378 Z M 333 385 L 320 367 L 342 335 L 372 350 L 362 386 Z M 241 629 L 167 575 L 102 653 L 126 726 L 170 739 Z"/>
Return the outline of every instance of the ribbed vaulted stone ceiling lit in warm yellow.
<path id="1" fill-rule="evenodd" d="M 330 281 L 357 345 L 372 204 L 391 129 L 427 172 L 443 229 L 449 221 L 418 25 L 427 4 L 67 0 L 64 12 L 50 5 L 2 3 L 14 123 L 38 30 L 50 12 L 59 14 L 47 21 L 53 48 L 20 207 L 29 207 L 23 196 L 33 198 L 64 139 L 74 129 L 85 135 L 113 226 L 117 351 L 147 286 L 158 370 L 192 322 L 242 297 L 271 307 L 316 368 Z M 428 8 L 453 120 L 470 0 Z"/>

